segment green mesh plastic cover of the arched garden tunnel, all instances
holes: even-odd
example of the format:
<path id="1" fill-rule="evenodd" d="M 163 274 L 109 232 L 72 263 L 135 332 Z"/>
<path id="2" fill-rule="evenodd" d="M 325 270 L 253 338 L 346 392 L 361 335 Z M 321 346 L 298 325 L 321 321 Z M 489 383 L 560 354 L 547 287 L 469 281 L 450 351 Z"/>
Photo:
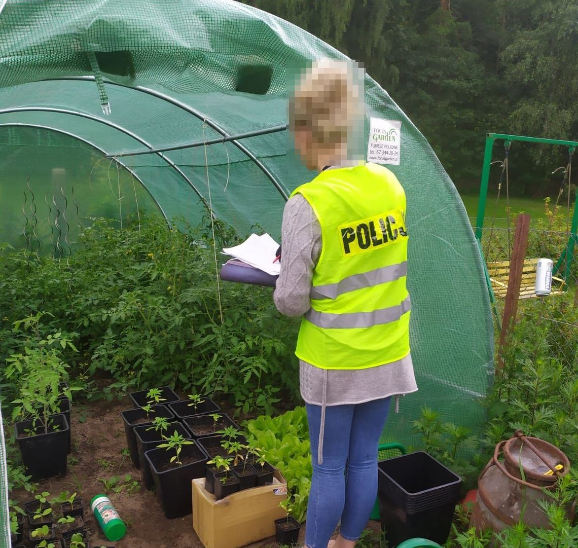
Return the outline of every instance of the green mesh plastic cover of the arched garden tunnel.
<path id="1" fill-rule="evenodd" d="M 94 214 L 80 202 L 93 184 L 104 210 L 120 220 L 116 164 L 112 184 L 108 173 L 89 177 L 104 153 L 286 124 L 286 66 L 344 58 L 302 29 L 231 0 L 9 0 L 0 25 L 0 192 L 17 197 L 0 200 L 0 219 L 10 219 L 0 239 L 21 233 L 27 184 L 40 197 L 40 218 L 49 214 L 40 213 L 43 198 L 62 177 L 74 187 L 81 217 Z M 425 138 L 369 76 L 365 101 L 368 120 L 402 123 L 401 165 L 391 169 L 407 194 L 420 387 L 391 416 L 386 438 L 415 443 L 411 424 L 424 404 L 479 429 L 483 412 L 473 401 L 486 394 L 493 372 L 493 329 L 468 217 Z M 240 234 L 258 223 L 279 238 L 284 195 L 312 178 L 286 150 L 286 132 L 206 147 L 214 213 Z M 130 170 L 121 181 L 126 212 L 135 209 L 136 181 L 146 188 L 144 208 L 201 219 L 204 147 L 118 160 Z M 101 165 L 109 169 L 110 161 Z M 68 199 L 70 192 L 66 187 Z"/>

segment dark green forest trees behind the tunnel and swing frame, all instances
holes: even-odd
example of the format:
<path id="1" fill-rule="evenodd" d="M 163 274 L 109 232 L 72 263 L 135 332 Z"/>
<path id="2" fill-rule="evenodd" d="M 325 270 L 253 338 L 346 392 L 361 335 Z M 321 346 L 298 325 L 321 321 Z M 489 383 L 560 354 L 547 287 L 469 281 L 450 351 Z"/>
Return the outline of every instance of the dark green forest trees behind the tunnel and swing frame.
<path id="1" fill-rule="evenodd" d="M 578 0 L 242 1 L 362 62 L 461 191 L 477 189 L 487 132 L 578 139 Z M 512 192 L 551 194 L 566 159 L 514 146 Z"/>

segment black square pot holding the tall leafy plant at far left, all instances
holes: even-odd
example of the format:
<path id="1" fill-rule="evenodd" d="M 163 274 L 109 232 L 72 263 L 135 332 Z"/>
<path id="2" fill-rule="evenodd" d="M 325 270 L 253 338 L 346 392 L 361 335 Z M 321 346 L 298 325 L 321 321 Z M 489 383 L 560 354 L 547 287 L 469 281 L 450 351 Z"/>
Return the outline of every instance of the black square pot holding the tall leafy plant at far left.
<path id="1" fill-rule="evenodd" d="M 45 434 L 44 427 L 34 419 L 24 420 L 14 425 L 16 441 L 20 446 L 22 461 L 33 481 L 66 473 L 68 448 L 68 423 L 64 415 L 51 415 L 49 424 L 58 428 Z M 28 435 L 25 430 L 36 432 Z"/>

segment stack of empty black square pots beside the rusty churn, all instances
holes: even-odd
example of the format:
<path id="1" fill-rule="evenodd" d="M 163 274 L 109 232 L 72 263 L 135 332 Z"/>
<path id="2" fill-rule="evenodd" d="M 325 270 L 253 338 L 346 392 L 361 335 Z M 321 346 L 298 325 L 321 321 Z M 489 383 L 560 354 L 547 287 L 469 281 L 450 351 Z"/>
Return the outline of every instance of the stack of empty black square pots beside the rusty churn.
<path id="1" fill-rule="evenodd" d="M 390 546 L 414 537 L 443 545 L 460 496 L 460 476 L 424 451 L 380 461 L 377 470 L 381 528 Z"/>

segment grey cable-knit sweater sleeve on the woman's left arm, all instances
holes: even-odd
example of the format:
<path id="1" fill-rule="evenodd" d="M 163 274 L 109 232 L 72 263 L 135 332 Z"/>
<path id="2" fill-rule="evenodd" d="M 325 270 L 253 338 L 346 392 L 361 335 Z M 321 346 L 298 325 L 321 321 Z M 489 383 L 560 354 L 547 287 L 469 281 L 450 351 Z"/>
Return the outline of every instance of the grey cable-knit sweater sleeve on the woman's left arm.
<path id="1" fill-rule="evenodd" d="M 311 308 L 309 294 L 321 253 L 321 227 L 301 194 L 292 197 L 283 210 L 281 246 L 281 273 L 273 300 L 281 314 L 302 316 Z"/>

